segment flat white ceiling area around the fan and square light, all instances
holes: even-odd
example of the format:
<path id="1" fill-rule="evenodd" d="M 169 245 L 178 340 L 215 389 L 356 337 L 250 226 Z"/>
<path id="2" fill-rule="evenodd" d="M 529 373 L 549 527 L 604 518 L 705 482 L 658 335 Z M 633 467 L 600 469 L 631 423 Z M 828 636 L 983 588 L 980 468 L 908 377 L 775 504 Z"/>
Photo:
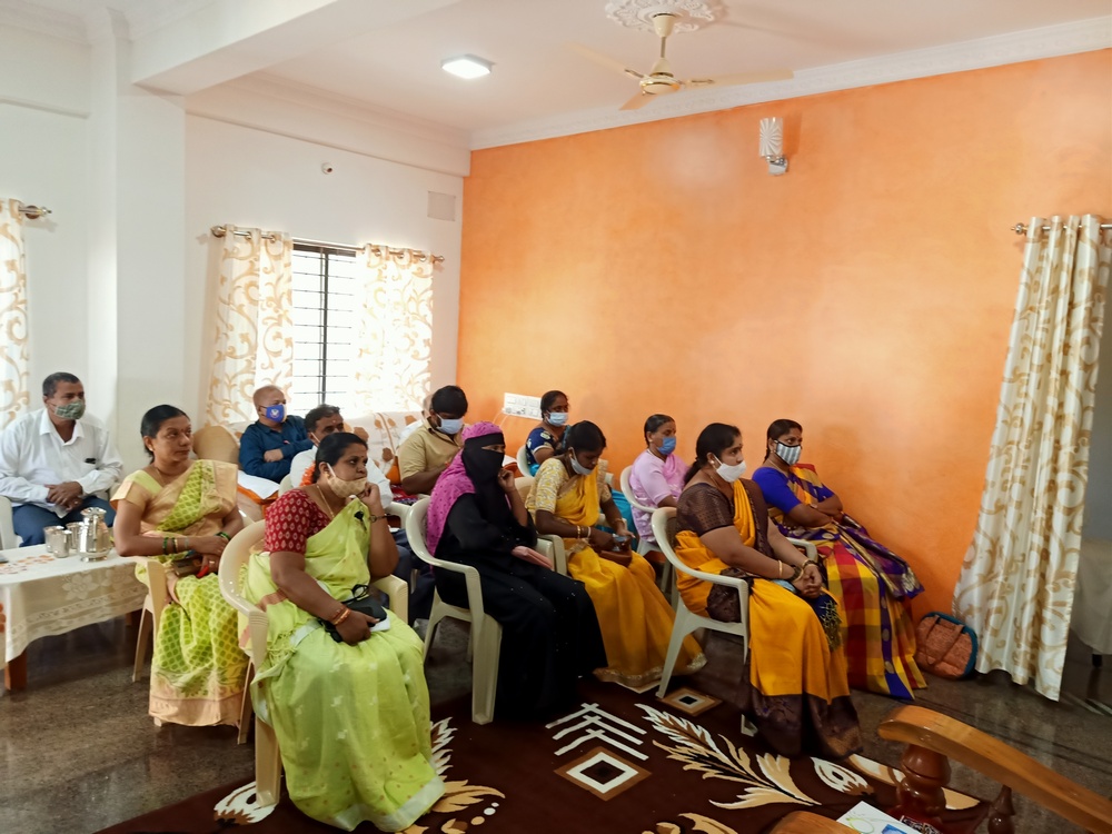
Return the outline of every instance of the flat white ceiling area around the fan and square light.
<path id="1" fill-rule="evenodd" d="M 721 20 L 668 40 L 681 78 L 805 70 L 1108 16 L 1109 0 L 727 0 Z M 567 48 L 647 72 L 659 41 L 607 19 L 605 0 L 464 0 L 267 70 L 300 85 L 469 131 L 613 106 L 636 81 Z M 465 81 L 440 60 L 473 53 L 494 72 Z M 691 95 L 691 93 L 684 93 Z M 651 105 L 649 108 L 654 107 Z"/>

